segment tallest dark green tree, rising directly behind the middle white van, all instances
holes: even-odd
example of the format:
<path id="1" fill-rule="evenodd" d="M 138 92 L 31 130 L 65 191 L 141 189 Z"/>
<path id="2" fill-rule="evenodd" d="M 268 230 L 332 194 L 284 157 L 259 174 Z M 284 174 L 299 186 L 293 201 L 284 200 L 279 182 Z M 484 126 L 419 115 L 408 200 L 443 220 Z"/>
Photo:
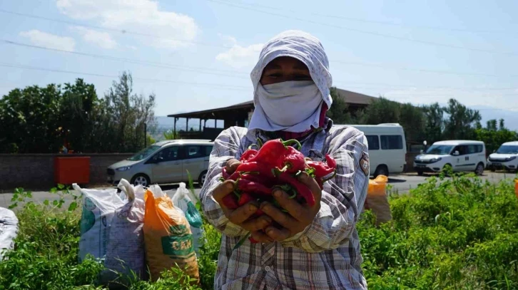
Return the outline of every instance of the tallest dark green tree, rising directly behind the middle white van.
<path id="1" fill-rule="evenodd" d="M 448 118 L 445 120 L 445 139 L 473 139 L 475 138 L 475 125 L 482 117 L 478 110 L 472 110 L 459 103 L 458 100 L 450 99 L 445 108 Z"/>

